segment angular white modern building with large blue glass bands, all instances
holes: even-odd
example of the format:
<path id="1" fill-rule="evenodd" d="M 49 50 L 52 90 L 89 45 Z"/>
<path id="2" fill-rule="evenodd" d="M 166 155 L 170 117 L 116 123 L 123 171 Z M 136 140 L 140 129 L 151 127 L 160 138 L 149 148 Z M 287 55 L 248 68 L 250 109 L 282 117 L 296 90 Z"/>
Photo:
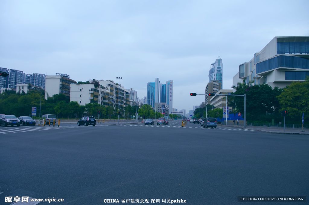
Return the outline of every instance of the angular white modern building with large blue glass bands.
<path id="1" fill-rule="evenodd" d="M 249 62 L 239 65 L 239 79 L 252 85 L 284 88 L 309 76 L 309 36 L 275 37 Z M 236 86 L 237 82 L 233 81 Z"/>

